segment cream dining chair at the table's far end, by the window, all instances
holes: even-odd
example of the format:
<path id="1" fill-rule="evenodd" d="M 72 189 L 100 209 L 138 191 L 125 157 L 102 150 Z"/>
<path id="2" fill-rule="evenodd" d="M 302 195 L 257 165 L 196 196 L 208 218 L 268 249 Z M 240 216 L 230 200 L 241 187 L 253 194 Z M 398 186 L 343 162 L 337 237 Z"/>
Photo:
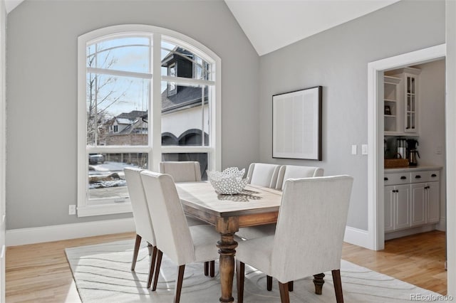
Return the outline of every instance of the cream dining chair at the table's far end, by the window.
<path id="1" fill-rule="evenodd" d="M 201 169 L 198 161 L 165 161 L 160 162 L 160 173 L 169 174 L 175 182 L 196 182 L 201 181 Z M 185 216 L 187 225 L 202 225 L 207 224 L 203 220 L 199 220 L 192 216 Z M 210 270 L 209 270 L 210 265 Z M 204 262 L 204 275 L 214 277 L 215 262 Z"/>

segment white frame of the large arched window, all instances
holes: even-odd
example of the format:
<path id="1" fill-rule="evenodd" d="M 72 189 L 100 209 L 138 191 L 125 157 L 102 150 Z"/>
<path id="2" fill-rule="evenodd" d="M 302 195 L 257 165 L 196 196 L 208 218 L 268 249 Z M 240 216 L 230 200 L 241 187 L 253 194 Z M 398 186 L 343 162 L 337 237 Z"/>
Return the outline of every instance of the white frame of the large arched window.
<path id="1" fill-rule="evenodd" d="M 162 153 L 207 153 L 208 166 L 211 170 L 220 170 L 221 161 L 221 65 L 222 60 L 212 50 L 202 45 L 198 41 L 167 28 L 146 25 L 120 25 L 100 28 L 95 31 L 83 34 L 78 37 L 78 217 L 100 216 L 114 213 L 130 213 L 130 200 L 124 202 L 110 203 L 90 203 L 88 201 L 88 149 L 86 142 L 86 49 L 89 44 L 102 38 L 110 36 L 133 35 L 133 36 L 151 36 L 152 37 L 152 62 L 161 62 L 161 41 L 162 36 L 166 41 L 172 41 L 178 46 L 190 50 L 207 62 L 211 63 L 212 74 L 215 80 L 197 80 L 187 78 L 168 77 L 161 75 L 161 64 L 152 63 L 152 89 L 150 96 L 149 109 L 152 115 L 149 118 L 149 145 L 144 147 L 134 147 L 135 151 L 144 152 L 149 155 L 149 169 L 159 171 L 159 164 L 162 159 Z M 155 46 L 155 47 L 153 47 Z M 160 46 L 160 47 L 156 47 Z M 192 85 L 211 85 L 213 87 L 214 102 L 209 107 L 209 146 L 207 147 L 180 147 L 180 146 L 161 146 L 161 92 L 162 81 L 173 80 L 176 83 L 187 83 Z M 152 102 L 160 100 L 160 102 Z M 97 146 L 90 147 L 90 152 L 108 153 L 108 152 L 132 152 L 132 147 L 113 147 Z"/>

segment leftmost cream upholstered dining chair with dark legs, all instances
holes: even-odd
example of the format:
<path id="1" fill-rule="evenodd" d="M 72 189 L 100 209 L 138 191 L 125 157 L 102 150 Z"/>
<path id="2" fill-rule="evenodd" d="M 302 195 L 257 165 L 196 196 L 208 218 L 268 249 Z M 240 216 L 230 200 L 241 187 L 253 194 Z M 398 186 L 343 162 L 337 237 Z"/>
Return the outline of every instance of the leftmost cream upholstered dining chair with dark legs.
<path id="1" fill-rule="evenodd" d="M 140 172 L 142 169 L 133 167 L 125 167 L 125 181 L 127 181 L 128 193 L 130 195 L 131 208 L 133 209 L 133 219 L 135 220 L 136 239 L 133 250 L 133 261 L 131 262 L 131 270 L 135 270 L 136 260 L 138 259 L 138 251 L 140 249 L 141 240 L 144 239 L 152 249 L 150 253 L 150 270 L 147 277 L 147 288 L 152 284 L 152 276 L 154 273 L 155 259 L 157 257 L 157 245 L 155 241 L 154 228 L 150 219 L 149 208 L 145 198 L 144 188 L 142 186 Z"/>

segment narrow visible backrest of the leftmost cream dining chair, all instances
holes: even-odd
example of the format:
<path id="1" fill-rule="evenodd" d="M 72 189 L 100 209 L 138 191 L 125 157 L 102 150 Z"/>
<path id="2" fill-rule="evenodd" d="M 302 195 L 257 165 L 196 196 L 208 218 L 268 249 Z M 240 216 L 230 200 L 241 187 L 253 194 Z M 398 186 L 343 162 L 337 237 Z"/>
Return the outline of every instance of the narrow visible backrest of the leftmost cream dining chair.
<path id="1" fill-rule="evenodd" d="M 145 198 L 140 172 L 142 169 L 126 167 L 123 169 L 127 181 L 128 193 L 130 194 L 133 218 L 135 219 L 136 233 L 152 245 L 156 245 L 155 233 L 150 219 L 149 207 Z"/>

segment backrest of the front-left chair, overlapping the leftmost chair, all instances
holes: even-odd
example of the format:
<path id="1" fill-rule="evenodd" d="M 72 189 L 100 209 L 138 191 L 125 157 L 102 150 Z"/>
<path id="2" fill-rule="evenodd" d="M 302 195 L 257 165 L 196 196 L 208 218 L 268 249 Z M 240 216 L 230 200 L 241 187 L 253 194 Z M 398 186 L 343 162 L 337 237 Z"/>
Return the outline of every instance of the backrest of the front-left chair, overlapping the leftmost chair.
<path id="1" fill-rule="evenodd" d="M 157 248 L 177 265 L 195 260 L 192 235 L 172 176 L 152 171 L 141 172 Z"/>

